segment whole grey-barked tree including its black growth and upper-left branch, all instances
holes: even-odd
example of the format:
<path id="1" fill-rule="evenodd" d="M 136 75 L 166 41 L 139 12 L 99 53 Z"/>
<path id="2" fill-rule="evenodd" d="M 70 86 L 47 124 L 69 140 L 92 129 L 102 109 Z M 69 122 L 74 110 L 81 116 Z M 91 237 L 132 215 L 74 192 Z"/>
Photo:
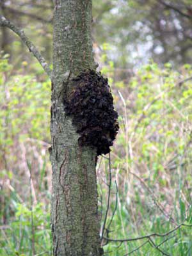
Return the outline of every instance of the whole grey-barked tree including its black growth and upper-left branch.
<path id="1" fill-rule="evenodd" d="M 54 255 L 102 255 L 97 207 L 97 156 L 109 152 L 118 124 L 108 81 L 95 72 L 92 0 L 60 0 L 54 6 L 53 70 L 25 35 L 20 36 L 52 81 L 51 228 Z"/>

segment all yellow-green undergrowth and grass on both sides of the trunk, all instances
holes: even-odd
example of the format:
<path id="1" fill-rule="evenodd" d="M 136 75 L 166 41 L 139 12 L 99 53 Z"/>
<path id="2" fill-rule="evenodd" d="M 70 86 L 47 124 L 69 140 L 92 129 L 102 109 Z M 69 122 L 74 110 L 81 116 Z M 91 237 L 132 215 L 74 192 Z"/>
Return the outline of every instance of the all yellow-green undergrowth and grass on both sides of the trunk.
<path id="1" fill-rule="evenodd" d="M 185 81 L 192 74 L 191 65 L 176 71 L 170 63 L 160 68 L 151 61 L 131 79 L 122 81 L 115 76 L 116 68 L 108 59 L 108 49 L 109 45 L 104 44 L 101 71 L 109 77 L 120 123 L 111 152 L 113 179 L 107 225 L 116 203 L 117 209 L 109 237 L 165 234 L 179 223 L 191 225 L 192 81 Z M 51 255 L 51 166 L 46 151 L 50 140 L 51 84 L 44 78 L 22 74 L 23 70 L 16 74 L 7 57 L 0 61 L 0 175 L 3 182 L 0 255 Z M 27 66 L 28 63 L 22 63 L 22 68 Z M 108 159 L 101 157 L 98 163 L 104 215 Z M 35 195 L 29 185 L 28 172 Z M 168 255 L 192 253 L 190 227 L 184 226 L 166 237 L 152 239 L 156 244 L 162 243 L 159 249 Z M 108 243 L 104 250 L 110 256 L 126 255 L 145 241 L 121 246 Z M 160 256 L 162 253 L 146 243 L 132 255 Z"/>

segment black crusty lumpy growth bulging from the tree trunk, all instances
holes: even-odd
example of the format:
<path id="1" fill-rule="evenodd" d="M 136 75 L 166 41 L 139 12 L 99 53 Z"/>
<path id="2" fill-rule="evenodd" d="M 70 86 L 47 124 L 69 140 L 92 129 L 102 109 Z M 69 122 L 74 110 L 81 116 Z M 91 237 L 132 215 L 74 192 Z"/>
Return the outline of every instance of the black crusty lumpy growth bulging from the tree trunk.
<path id="1" fill-rule="evenodd" d="M 109 153 L 119 127 L 108 79 L 93 70 L 82 72 L 72 80 L 72 88 L 64 104 L 81 134 L 79 144 L 97 147 L 98 156 Z"/>

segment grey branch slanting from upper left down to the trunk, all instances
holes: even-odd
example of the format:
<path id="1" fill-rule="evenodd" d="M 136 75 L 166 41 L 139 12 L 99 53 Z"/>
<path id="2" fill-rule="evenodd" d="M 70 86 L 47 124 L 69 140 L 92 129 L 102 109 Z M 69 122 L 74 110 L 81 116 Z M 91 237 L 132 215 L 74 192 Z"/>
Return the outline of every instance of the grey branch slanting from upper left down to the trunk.
<path id="1" fill-rule="evenodd" d="M 29 41 L 29 39 L 25 35 L 24 31 L 22 29 L 17 28 L 17 26 L 15 26 L 12 22 L 7 20 L 2 15 L 0 15 L 0 26 L 11 29 L 13 32 L 15 32 L 20 37 L 22 42 L 24 42 L 24 44 L 28 47 L 29 51 L 33 53 L 36 60 L 38 60 L 40 65 L 42 65 L 42 68 L 44 68 L 45 72 L 51 79 L 51 68 L 49 68 L 49 65 L 45 61 L 44 57 L 40 54 L 40 52 L 38 52 L 35 45 L 31 41 Z"/>

